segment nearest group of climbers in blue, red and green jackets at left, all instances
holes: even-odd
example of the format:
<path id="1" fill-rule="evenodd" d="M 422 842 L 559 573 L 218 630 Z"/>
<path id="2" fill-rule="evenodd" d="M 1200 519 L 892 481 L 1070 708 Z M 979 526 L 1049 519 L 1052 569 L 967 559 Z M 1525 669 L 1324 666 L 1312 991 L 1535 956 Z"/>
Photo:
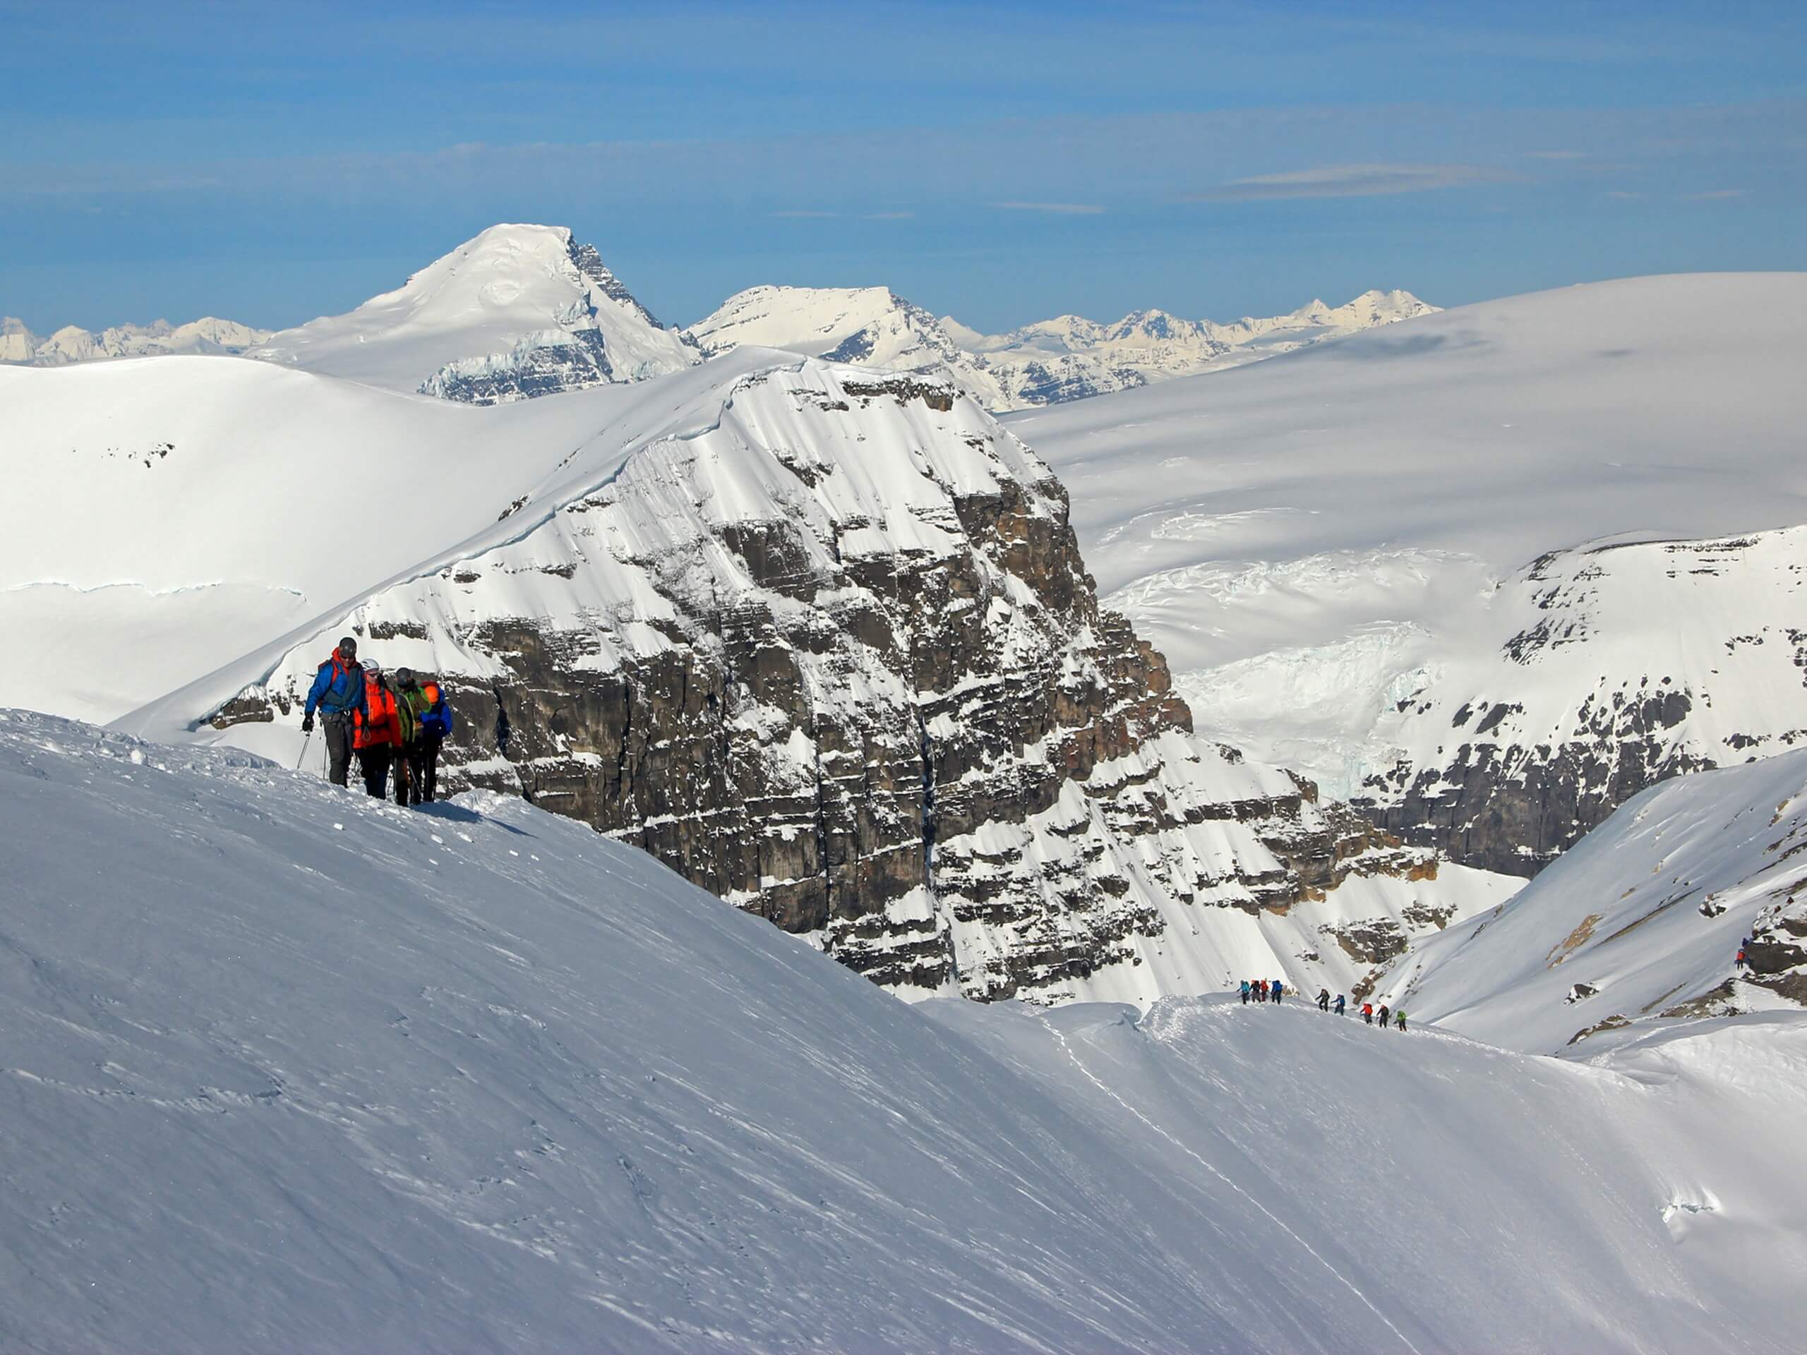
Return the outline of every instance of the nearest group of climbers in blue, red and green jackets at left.
<path id="1" fill-rule="evenodd" d="M 302 710 L 302 732 L 314 732 L 320 712 L 327 743 L 327 779 L 351 782 L 351 759 L 358 755 L 363 788 L 376 799 L 389 797 L 396 777 L 396 804 L 430 804 L 439 788 L 439 748 L 452 734 L 452 708 L 434 679 L 421 681 L 408 668 L 385 674 L 358 661 L 358 641 L 340 640 L 338 649 L 314 672 Z"/>

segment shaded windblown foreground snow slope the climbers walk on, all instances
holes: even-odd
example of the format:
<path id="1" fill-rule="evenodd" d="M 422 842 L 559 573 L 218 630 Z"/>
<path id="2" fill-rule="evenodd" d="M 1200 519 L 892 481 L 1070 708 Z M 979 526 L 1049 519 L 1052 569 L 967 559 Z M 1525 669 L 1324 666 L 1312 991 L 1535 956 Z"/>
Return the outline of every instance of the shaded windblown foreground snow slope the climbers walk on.
<path id="1" fill-rule="evenodd" d="M 1800 1015 L 909 1008 L 580 824 L 0 712 L 13 1350 L 1784 1351 Z"/>

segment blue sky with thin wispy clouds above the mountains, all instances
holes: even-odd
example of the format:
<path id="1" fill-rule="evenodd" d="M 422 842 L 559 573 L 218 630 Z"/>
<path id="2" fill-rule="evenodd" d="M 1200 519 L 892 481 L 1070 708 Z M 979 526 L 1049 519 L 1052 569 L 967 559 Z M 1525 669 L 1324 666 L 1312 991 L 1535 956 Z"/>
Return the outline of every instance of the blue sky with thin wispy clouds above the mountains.
<path id="1" fill-rule="evenodd" d="M 661 318 L 1807 267 L 1807 5 L 0 0 L 0 311 L 343 311 L 497 220 Z"/>

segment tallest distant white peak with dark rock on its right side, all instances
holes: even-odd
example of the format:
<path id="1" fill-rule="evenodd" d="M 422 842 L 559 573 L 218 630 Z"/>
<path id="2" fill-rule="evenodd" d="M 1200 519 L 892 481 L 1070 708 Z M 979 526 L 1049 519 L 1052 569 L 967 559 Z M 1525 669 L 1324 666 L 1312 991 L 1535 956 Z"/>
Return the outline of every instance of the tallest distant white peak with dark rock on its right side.
<path id="1" fill-rule="evenodd" d="M 701 361 L 564 226 L 492 226 L 356 311 L 253 358 L 470 405 L 641 381 Z"/>

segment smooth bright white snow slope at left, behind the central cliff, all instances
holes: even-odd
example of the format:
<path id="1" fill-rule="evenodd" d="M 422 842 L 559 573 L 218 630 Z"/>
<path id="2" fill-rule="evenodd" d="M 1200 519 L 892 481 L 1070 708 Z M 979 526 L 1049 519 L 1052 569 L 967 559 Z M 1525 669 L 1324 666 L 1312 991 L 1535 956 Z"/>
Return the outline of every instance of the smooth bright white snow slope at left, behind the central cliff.
<path id="1" fill-rule="evenodd" d="M 123 715 L 772 361 L 488 410 L 226 358 L 0 369 L 0 621 L 36 638 L 0 701 Z"/>

